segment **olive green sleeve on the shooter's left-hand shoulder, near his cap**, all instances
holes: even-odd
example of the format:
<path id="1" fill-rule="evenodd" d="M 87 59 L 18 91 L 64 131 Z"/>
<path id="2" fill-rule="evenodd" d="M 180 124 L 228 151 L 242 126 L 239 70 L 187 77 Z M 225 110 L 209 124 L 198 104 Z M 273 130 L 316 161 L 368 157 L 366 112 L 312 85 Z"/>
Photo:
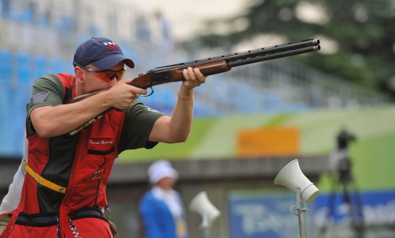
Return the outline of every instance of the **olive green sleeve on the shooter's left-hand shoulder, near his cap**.
<path id="1" fill-rule="evenodd" d="M 60 79 L 53 74 L 46 74 L 37 78 L 33 83 L 30 101 L 27 104 L 27 115 L 41 106 L 56 106 L 63 104 L 63 86 Z"/>

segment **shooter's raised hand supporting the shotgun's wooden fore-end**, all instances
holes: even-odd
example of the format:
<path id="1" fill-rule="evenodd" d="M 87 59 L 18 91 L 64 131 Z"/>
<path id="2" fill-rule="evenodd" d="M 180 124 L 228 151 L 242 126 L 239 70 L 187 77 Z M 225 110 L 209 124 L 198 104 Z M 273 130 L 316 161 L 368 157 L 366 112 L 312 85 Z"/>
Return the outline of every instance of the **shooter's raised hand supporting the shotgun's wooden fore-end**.
<path id="1" fill-rule="evenodd" d="M 207 76 L 203 75 L 198 68 L 192 69 L 188 67 L 183 70 L 185 81 L 182 82 L 179 95 L 181 97 L 187 97 L 192 93 L 194 87 L 199 87 L 201 84 L 206 82 Z"/>

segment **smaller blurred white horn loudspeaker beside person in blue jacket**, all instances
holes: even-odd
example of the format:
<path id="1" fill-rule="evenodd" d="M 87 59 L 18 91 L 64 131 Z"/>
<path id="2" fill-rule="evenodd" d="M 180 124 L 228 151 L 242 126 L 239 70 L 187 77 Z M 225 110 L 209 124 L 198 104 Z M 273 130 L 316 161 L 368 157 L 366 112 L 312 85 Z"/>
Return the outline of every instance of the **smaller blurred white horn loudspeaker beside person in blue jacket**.
<path id="1" fill-rule="evenodd" d="M 203 218 L 202 227 L 209 228 L 212 222 L 221 214 L 209 201 L 206 191 L 201 191 L 189 203 L 189 210 L 200 214 Z"/>

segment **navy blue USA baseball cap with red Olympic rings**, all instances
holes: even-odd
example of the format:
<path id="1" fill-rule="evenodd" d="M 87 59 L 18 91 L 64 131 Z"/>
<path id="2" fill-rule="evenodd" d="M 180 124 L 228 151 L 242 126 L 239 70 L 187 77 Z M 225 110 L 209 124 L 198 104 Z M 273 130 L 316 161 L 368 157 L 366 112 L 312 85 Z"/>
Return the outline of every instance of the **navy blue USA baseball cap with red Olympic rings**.
<path id="1" fill-rule="evenodd" d="M 120 46 L 104 37 L 92 37 L 77 48 L 73 65 L 85 67 L 92 64 L 100 69 L 110 69 L 121 61 L 129 68 L 134 68 L 133 61 L 124 56 Z"/>

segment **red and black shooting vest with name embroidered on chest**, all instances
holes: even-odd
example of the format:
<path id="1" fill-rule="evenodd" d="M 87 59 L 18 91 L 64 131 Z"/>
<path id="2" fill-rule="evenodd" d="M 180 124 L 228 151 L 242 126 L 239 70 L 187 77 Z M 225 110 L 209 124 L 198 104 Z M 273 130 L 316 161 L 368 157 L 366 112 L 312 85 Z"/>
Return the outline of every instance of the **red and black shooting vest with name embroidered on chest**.
<path id="1" fill-rule="evenodd" d="M 75 97 L 74 76 L 56 76 L 64 100 Z M 78 237 L 76 233 L 112 237 L 101 210 L 107 206 L 106 183 L 118 157 L 124 120 L 125 112 L 112 110 L 74 136 L 52 138 L 39 137 L 27 120 L 28 165 L 66 192 L 51 190 L 26 174 L 19 206 L 0 238 Z"/>

